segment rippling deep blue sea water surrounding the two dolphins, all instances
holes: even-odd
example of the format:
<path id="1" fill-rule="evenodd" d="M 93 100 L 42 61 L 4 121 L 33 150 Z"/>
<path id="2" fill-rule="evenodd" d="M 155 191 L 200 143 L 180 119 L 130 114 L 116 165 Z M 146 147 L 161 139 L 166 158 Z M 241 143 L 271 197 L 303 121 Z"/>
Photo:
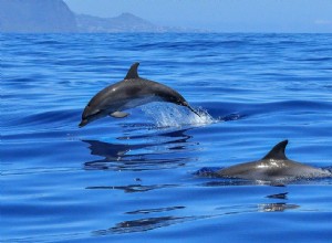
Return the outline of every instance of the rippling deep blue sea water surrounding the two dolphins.
<path id="1" fill-rule="evenodd" d="M 331 34 L 2 34 L 2 242 L 331 242 L 332 179 L 199 177 L 263 157 L 332 166 Z M 134 62 L 186 97 L 77 128 Z"/>

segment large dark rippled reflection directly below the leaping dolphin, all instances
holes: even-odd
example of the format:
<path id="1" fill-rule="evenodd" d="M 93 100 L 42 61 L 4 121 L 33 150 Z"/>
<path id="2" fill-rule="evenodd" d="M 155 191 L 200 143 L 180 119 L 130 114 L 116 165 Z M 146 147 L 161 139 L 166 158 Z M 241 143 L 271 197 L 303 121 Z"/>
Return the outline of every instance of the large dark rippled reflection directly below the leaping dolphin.
<path id="1" fill-rule="evenodd" d="M 188 129 L 159 134 L 156 137 L 139 135 L 120 137 L 118 140 L 136 144 L 114 144 L 98 140 L 83 140 L 89 144 L 91 155 L 104 157 L 84 163 L 86 170 L 154 170 L 169 169 L 185 166 L 191 158 L 188 156 L 174 157 L 174 150 L 189 151 L 191 136 L 185 133 Z M 137 142 L 138 141 L 138 142 Z M 169 156 L 173 152 L 173 156 Z"/>

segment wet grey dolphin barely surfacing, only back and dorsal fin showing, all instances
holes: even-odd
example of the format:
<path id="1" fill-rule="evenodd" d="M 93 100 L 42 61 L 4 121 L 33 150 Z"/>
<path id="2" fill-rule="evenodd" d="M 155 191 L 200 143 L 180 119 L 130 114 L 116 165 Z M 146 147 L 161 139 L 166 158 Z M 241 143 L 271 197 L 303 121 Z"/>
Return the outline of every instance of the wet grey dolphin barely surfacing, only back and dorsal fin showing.
<path id="1" fill-rule="evenodd" d="M 288 140 L 276 145 L 262 159 L 216 171 L 217 177 L 278 181 L 331 177 L 332 172 L 290 160 L 284 155 Z"/>

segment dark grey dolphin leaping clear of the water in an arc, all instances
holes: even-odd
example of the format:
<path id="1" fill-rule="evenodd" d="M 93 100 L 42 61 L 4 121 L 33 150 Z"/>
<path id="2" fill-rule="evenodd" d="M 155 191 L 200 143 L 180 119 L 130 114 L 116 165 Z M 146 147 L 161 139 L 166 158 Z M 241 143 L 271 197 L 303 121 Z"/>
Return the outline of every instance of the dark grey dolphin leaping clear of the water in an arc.
<path id="1" fill-rule="evenodd" d="M 89 102 L 79 127 L 108 115 L 115 118 L 124 118 L 128 114 L 123 110 L 157 101 L 186 106 L 198 115 L 188 102 L 173 88 L 139 77 L 137 73 L 138 65 L 139 63 L 134 63 L 123 81 L 105 87 Z"/>

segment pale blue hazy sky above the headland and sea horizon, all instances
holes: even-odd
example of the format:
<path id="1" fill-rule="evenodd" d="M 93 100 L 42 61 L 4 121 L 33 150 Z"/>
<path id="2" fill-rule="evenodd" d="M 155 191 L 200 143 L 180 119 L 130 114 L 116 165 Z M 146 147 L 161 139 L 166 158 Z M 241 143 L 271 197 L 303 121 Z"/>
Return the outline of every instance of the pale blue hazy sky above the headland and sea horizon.
<path id="1" fill-rule="evenodd" d="M 155 24 L 222 32 L 329 32 L 332 0 L 64 0 L 76 13 L 129 12 Z"/>

